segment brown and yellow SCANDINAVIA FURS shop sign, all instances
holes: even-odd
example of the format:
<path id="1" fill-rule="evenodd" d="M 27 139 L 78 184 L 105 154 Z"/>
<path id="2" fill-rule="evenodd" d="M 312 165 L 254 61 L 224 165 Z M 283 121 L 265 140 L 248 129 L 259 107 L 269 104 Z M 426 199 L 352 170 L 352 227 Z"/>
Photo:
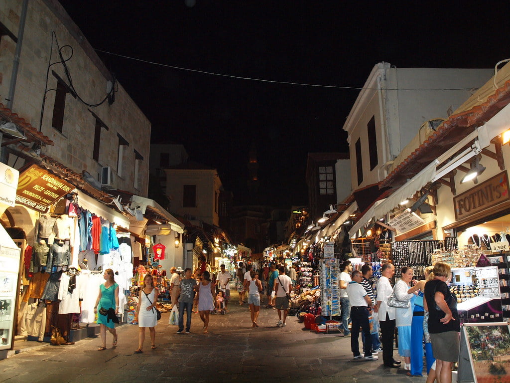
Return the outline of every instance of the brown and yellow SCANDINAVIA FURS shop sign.
<path id="1" fill-rule="evenodd" d="M 45 213 L 73 188 L 63 179 L 32 165 L 19 176 L 16 203 Z"/>

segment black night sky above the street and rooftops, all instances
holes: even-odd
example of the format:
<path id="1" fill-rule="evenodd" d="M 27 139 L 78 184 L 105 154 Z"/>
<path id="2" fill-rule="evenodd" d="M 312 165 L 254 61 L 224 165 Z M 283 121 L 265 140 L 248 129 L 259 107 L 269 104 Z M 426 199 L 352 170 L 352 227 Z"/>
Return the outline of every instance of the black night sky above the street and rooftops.
<path id="1" fill-rule="evenodd" d="M 96 50 L 211 73 L 361 87 L 380 61 L 491 68 L 510 58 L 505 2 L 61 0 Z M 98 52 L 152 123 L 242 201 L 257 147 L 263 203 L 305 205 L 308 152 L 347 152 L 359 89 L 258 82 Z"/>

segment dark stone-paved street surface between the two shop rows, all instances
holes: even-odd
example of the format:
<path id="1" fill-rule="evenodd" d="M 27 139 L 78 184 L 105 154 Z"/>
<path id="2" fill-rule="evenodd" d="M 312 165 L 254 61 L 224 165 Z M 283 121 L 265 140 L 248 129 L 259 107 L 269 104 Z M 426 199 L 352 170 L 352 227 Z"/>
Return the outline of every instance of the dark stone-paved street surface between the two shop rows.
<path id="1" fill-rule="evenodd" d="M 236 295 L 237 298 L 237 295 Z M 236 300 L 234 300 L 235 302 Z M 247 306 L 232 305 L 226 315 L 212 315 L 209 333 L 202 333 L 193 314 L 191 334 L 176 334 L 163 314 L 157 326 L 156 350 L 147 339 L 142 354 L 138 326 L 118 327 L 119 342 L 96 351 L 98 339 L 71 346 L 46 346 L 0 361 L 3 382 L 244 382 L 315 383 L 393 382 L 423 383 L 426 377 L 408 377 L 403 370 L 384 369 L 382 361 L 352 361 L 350 338 L 338 333 L 316 334 L 290 317 L 277 328 L 276 310 L 261 308 L 259 328 L 251 328 Z M 396 355 L 398 359 L 398 355 Z"/>

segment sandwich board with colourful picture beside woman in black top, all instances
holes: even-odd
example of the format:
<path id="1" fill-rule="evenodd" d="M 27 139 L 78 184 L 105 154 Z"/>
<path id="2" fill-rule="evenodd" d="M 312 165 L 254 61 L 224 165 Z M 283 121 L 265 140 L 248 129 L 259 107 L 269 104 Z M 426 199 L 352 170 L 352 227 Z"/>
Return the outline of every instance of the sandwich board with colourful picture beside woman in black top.
<path id="1" fill-rule="evenodd" d="M 460 383 L 510 382 L 508 324 L 465 323 L 461 328 L 457 381 Z"/>

